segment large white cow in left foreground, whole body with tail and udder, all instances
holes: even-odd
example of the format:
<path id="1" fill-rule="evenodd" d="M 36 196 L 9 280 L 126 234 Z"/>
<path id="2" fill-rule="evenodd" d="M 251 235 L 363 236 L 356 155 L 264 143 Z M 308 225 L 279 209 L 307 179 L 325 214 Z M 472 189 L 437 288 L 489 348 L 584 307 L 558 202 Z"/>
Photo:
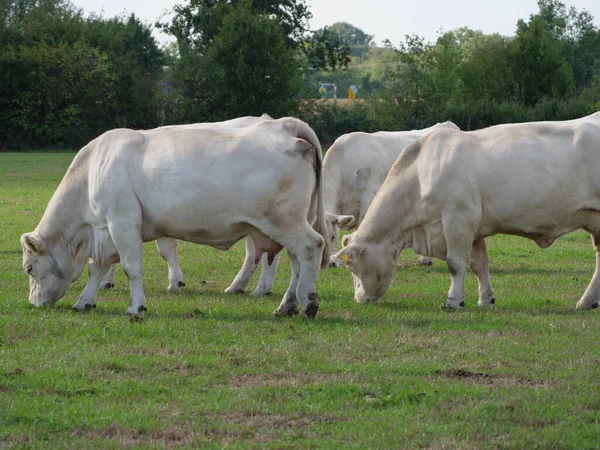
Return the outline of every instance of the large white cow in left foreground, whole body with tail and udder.
<path id="1" fill-rule="evenodd" d="M 317 271 L 329 263 L 321 159 L 313 130 L 292 118 L 104 133 L 77 154 L 37 228 L 21 236 L 29 301 L 63 297 L 85 252 L 90 280 L 74 308 L 94 306 L 102 277 L 120 261 L 127 313 L 137 315 L 146 309 L 143 242 L 170 237 L 227 250 L 251 236 L 255 261 L 284 247 L 290 257 L 292 279 L 275 314 L 295 314 L 299 302 L 314 317 Z"/>

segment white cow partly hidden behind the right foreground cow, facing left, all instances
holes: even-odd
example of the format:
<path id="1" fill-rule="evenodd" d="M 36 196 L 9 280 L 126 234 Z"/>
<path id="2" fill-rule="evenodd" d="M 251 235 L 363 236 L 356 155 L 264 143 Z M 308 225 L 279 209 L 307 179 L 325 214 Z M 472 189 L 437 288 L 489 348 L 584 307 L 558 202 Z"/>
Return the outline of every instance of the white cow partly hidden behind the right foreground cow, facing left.
<path id="1" fill-rule="evenodd" d="M 362 223 L 375 194 L 404 147 L 440 128 L 459 129 L 446 121 L 422 130 L 356 132 L 336 139 L 323 160 L 330 248 L 337 250 L 340 229 L 352 230 Z M 419 263 L 431 265 L 433 261 L 421 257 Z"/>

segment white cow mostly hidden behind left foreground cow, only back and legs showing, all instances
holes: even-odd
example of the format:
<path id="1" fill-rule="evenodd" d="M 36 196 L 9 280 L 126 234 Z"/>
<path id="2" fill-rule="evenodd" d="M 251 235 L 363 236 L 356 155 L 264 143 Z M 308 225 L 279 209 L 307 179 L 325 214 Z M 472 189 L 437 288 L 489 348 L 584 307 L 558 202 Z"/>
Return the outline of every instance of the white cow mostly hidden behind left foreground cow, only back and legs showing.
<path id="1" fill-rule="evenodd" d="M 173 129 L 181 129 L 181 128 L 203 128 L 203 127 L 212 127 L 212 126 L 225 126 L 225 127 L 248 127 L 251 125 L 255 125 L 257 123 L 265 122 L 267 120 L 273 120 L 271 116 L 268 114 L 263 114 L 260 117 L 254 116 L 245 116 L 238 117 L 236 119 L 226 120 L 223 122 L 211 122 L 211 123 L 193 123 L 187 125 L 166 125 L 163 127 L 155 128 L 154 130 L 173 130 Z M 185 286 L 185 282 L 183 281 L 183 274 L 181 272 L 181 267 L 179 266 L 179 258 L 177 253 L 177 240 L 171 238 L 161 238 L 156 240 L 156 247 L 158 248 L 158 252 L 163 257 L 163 259 L 167 262 L 169 267 L 168 272 L 168 280 L 169 284 L 167 286 L 168 292 L 179 292 L 180 288 Z M 275 280 L 275 274 L 277 271 L 277 266 L 279 264 L 280 254 L 278 253 L 275 257 L 275 260 L 272 264 L 268 263 L 267 255 L 263 255 L 263 266 L 262 272 L 260 276 L 260 280 L 258 283 L 258 287 L 256 288 L 254 295 L 263 295 L 265 293 L 270 293 L 272 290 L 272 285 Z M 76 261 L 76 269 L 73 274 L 73 280 L 76 281 L 80 276 L 85 266 L 88 263 L 88 258 L 84 253 L 81 253 L 79 258 Z M 226 292 L 244 292 L 246 285 L 252 278 L 252 275 L 256 271 L 258 264 L 254 262 L 254 243 L 252 242 L 252 237 L 248 236 L 246 238 L 246 258 L 244 261 L 244 265 L 242 269 L 236 276 L 235 280 L 229 288 L 227 288 Z M 112 264 L 110 269 L 100 282 L 99 289 L 110 289 L 115 284 L 115 271 L 116 264 Z"/>

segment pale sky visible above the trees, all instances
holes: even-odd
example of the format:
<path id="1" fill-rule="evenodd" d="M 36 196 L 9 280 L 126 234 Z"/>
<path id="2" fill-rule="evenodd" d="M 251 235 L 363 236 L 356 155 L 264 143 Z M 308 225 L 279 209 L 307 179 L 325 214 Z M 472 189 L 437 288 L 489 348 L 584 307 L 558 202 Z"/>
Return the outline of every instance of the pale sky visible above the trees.
<path id="1" fill-rule="evenodd" d="M 134 12 L 150 24 L 182 0 L 73 0 L 85 14 L 102 12 L 113 17 L 123 12 Z M 365 33 L 374 35 L 381 45 L 389 39 L 397 47 L 407 34 L 417 34 L 435 42 L 440 30 L 458 27 L 481 30 L 485 34 L 515 34 L 519 19 L 528 19 L 538 11 L 537 0 L 307 0 L 313 18 L 311 29 L 319 29 L 335 22 L 348 22 Z M 600 26 L 600 0 L 563 0 L 578 11 L 586 9 Z M 154 31 L 161 43 L 168 38 Z"/>

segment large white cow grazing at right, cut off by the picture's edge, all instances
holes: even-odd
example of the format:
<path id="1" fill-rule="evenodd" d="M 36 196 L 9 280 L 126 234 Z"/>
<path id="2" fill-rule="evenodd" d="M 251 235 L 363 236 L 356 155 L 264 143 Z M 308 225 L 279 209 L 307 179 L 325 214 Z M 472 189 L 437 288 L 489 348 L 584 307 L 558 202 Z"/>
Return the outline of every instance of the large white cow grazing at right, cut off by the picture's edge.
<path id="1" fill-rule="evenodd" d="M 446 260 L 446 308 L 464 305 L 470 264 L 479 306 L 495 303 L 485 238 L 512 234 L 546 248 L 583 228 L 596 271 L 577 308 L 600 299 L 600 113 L 566 122 L 437 130 L 409 145 L 392 167 L 361 226 L 334 255 L 354 278 L 354 299 L 376 302 L 407 247 Z"/>

